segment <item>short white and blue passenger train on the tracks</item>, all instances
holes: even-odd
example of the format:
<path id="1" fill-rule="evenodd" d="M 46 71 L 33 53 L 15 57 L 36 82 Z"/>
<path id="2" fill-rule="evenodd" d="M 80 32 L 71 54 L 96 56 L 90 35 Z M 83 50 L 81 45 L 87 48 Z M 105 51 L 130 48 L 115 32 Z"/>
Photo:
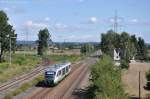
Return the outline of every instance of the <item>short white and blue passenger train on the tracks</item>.
<path id="1" fill-rule="evenodd" d="M 45 69 L 46 85 L 56 85 L 64 79 L 71 71 L 71 63 L 54 64 Z"/>

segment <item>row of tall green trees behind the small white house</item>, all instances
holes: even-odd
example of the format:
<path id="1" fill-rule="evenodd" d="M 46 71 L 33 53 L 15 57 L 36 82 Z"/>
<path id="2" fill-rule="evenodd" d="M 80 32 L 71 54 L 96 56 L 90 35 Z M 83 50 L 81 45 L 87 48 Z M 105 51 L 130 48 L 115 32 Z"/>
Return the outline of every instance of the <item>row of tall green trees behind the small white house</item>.
<path id="1" fill-rule="evenodd" d="M 115 33 L 112 30 L 101 34 L 101 50 L 113 57 L 113 50 L 120 52 L 121 59 L 129 61 L 133 57 L 139 60 L 147 59 L 147 47 L 141 37 L 129 35 L 127 32 Z"/>

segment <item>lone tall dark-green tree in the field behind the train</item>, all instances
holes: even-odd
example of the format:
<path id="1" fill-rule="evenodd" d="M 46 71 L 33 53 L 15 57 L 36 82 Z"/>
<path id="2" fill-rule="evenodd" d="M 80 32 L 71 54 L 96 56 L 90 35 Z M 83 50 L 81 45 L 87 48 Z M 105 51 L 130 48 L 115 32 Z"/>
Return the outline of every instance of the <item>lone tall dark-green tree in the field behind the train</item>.
<path id="1" fill-rule="evenodd" d="M 48 44 L 51 41 L 51 35 L 47 28 L 40 30 L 38 34 L 38 55 L 43 55 L 43 52 L 48 48 Z"/>

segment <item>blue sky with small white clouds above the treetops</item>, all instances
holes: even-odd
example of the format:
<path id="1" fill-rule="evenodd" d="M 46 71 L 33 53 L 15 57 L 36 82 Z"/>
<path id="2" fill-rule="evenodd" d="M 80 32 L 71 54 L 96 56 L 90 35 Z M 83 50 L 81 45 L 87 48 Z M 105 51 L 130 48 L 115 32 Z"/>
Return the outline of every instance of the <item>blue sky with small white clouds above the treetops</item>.
<path id="1" fill-rule="evenodd" d="M 100 41 L 100 34 L 113 29 L 136 34 L 150 43 L 150 0 L 0 0 L 18 40 L 36 40 L 47 27 L 53 41 Z"/>

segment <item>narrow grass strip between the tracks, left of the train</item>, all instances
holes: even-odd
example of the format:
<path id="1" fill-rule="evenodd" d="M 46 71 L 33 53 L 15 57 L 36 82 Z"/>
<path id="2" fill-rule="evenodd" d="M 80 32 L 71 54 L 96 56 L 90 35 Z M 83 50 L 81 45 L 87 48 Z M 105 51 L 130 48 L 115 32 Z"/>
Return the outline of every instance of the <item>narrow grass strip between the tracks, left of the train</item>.
<path id="1" fill-rule="evenodd" d="M 43 77 L 43 75 L 40 75 L 40 76 L 36 77 L 35 79 L 33 79 L 31 82 L 24 83 L 19 88 L 9 92 L 8 94 L 5 95 L 4 99 L 12 99 L 14 96 L 17 96 L 20 93 L 29 89 L 30 87 L 35 86 L 38 82 L 40 82 L 42 80 L 44 80 L 44 77 Z"/>

